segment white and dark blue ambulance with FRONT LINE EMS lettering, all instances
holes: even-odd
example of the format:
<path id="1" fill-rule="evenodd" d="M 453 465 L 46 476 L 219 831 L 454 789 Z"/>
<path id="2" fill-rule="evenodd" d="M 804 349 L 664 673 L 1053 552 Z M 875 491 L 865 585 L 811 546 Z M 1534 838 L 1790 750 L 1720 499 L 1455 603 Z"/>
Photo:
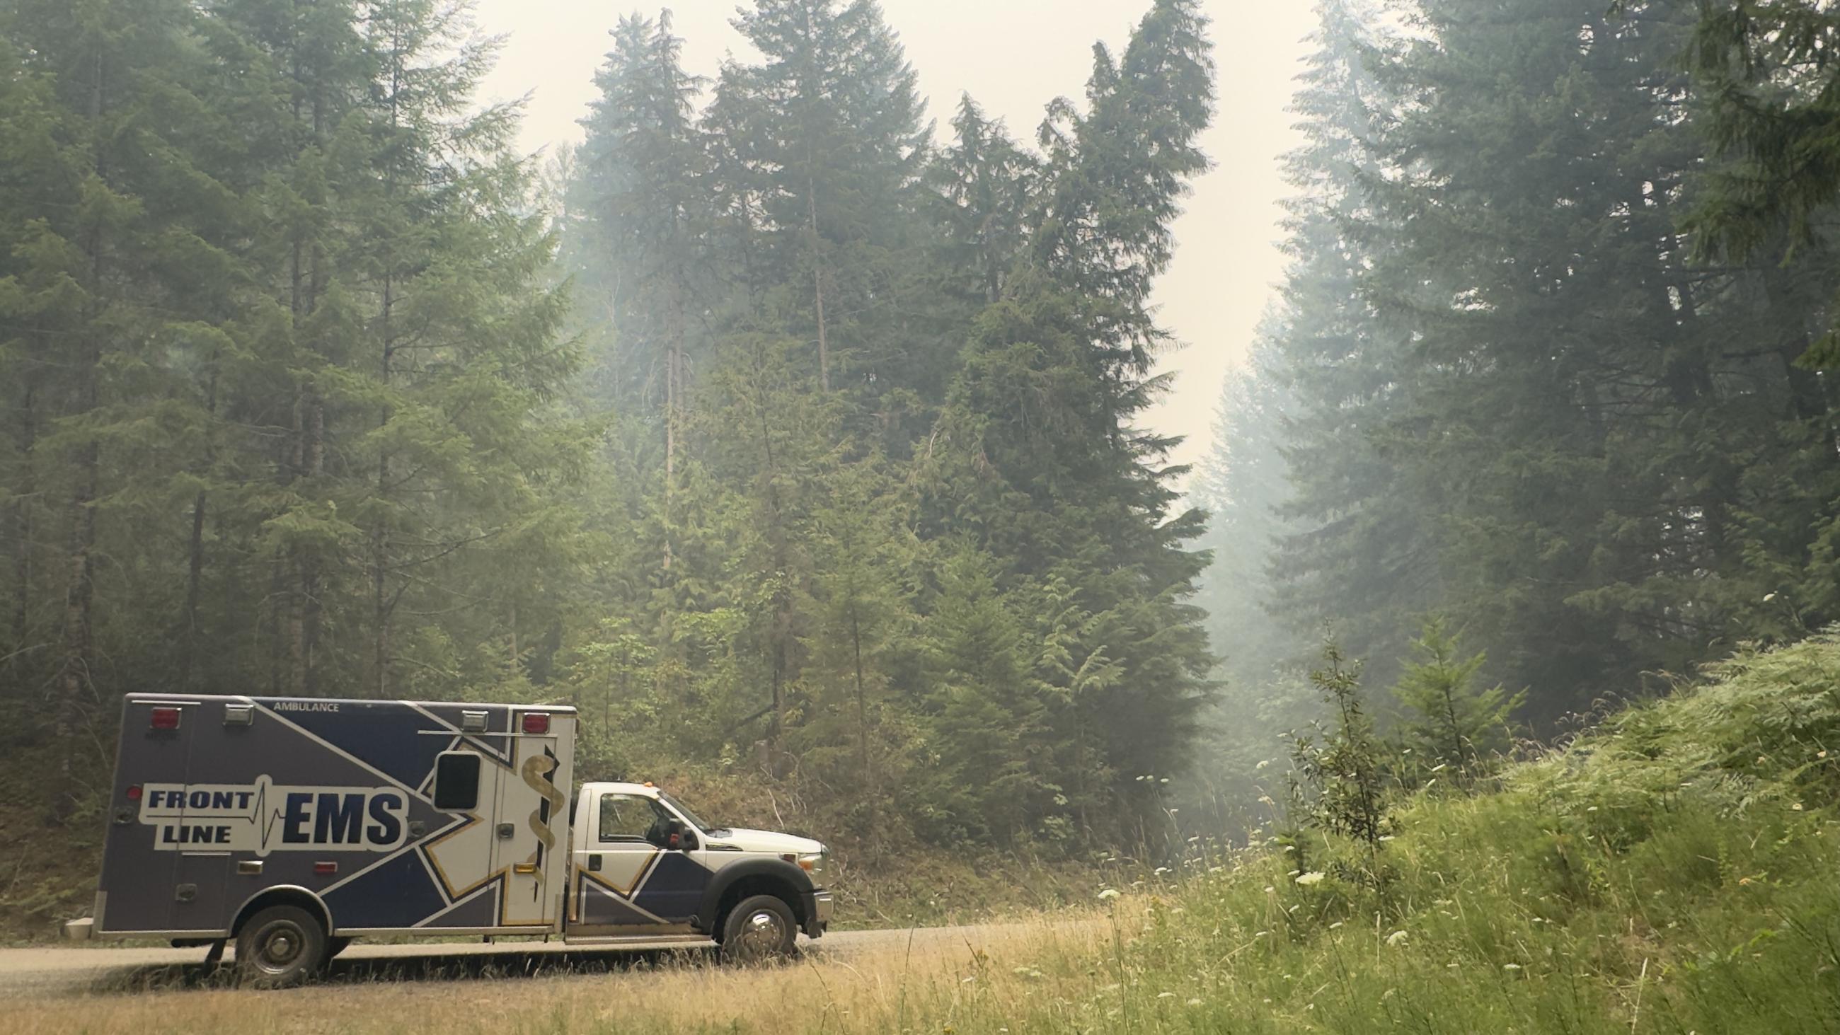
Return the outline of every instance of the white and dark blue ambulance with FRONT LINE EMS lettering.
<path id="1" fill-rule="evenodd" d="M 123 700 L 83 938 L 236 947 L 254 985 L 353 938 L 556 936 L 788 956 L 830 925 L 821 842 L 574 779 L 576 710 L 142 695 Z"/>

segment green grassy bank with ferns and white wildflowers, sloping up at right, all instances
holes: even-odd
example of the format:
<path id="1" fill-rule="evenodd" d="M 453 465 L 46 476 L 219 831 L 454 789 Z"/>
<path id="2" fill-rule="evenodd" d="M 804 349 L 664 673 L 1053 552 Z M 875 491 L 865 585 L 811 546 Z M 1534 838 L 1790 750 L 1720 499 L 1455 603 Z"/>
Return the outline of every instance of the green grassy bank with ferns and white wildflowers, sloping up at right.
<path id="1" fill-rule="evenodd" d="M 1840 642 L 1744 653 L 1490 792 L 1402 802 L 1380 892 L 1334 875 L 1356 846 L 1273 840 L 1141 921 L 1124 899 L 1108 987 L 1005 1026 L 1840 1031 L 1836 800 Z"/>

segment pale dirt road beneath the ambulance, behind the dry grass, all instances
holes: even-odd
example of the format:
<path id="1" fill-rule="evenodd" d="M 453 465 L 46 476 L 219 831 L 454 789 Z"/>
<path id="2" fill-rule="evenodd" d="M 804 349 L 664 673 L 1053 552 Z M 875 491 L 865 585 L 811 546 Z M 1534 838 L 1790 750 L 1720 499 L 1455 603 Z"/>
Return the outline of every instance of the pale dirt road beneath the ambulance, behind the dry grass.
<path id="1" fill-rule="evenodd" d="M 872 950 L 914 950 L 938 947 L 981 947 L 1010 938 L 1021 925 L 927 927 L 914 930 L 839 930 L 819 941 L 800 939 L 800 949 L 817 961 L 848 961 Z M 0 998 L 48 998 L 85 993 L 127 993 L 182 987 L 228 987 L 230 961 L 204 963 L 204 949 L 120 949 L 46 947 L 0 949 Z M 627 945 L 613 950 L 583 950 L 558 943 L 532 941 L 351 945 L 333 960 L 328 984 L 355 982 L 429 982 L 486 976 L 569 976 L 609 974 L 653 967 L 666 961 L 712 958 L 710 947 Z"/>

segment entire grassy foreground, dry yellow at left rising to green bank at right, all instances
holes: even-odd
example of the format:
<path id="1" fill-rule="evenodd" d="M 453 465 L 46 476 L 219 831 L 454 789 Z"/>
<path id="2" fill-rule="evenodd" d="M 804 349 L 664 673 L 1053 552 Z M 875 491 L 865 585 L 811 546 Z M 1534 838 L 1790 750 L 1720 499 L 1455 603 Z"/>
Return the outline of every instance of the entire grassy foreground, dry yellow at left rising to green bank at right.
<path id="1" fill-rule="evenodd" d="M 1840 1031 L 1840 640 L 1746 651 L 1397 835 L 1198 844 L 966 943 L 517 982 L 15 1000 L 28 1031 Z M 1378 868 L 1387 879 L 1360 881 Z"/>

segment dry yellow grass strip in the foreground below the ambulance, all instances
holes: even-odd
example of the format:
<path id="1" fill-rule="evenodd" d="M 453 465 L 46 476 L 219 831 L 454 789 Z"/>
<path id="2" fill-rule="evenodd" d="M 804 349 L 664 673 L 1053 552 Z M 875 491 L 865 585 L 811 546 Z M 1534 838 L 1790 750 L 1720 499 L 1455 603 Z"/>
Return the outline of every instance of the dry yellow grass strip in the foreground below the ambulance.
<path id="1" fill-rule="evenodd" d="M 970 932 L 885 932 L 868 945 L 822 943 L 782 967 L 732 969 L 707 956 L 598 961 L 546 976 L 462 980 L 351 976 L 283 993 L 138 987 L 28 995 L 6 1002 L 11 1028 L 98 1031 L 802 1031 L 983 1029 L 1036 1000 L 1080 998 L 1104 984 L 1113 927 L 1098 914 Z M 508 956 L 517 965 L 521 956 Z M 1089 993 L 1086 993 L 1089 995 Z M 995 1031 L 997 1026 L 988 1026 Z"/>

